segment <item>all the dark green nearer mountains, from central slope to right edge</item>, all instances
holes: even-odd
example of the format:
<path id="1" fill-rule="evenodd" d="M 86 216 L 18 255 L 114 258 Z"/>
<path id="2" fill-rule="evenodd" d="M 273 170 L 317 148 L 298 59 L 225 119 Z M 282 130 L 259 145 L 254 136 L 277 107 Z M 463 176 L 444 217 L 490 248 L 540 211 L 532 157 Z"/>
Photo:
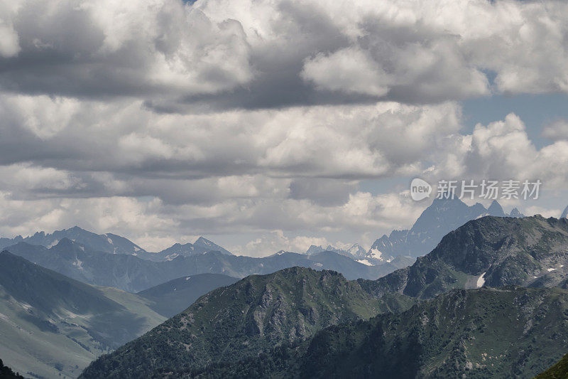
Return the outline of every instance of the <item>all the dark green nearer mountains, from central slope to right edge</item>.
<path id="1" fill-rule="evenodd" d="M 536 375 L 568 343 L 567 261 L 567 219 L 479 218 L 377 280 L 294 268 L 217 289 L 82 377 Z"/>

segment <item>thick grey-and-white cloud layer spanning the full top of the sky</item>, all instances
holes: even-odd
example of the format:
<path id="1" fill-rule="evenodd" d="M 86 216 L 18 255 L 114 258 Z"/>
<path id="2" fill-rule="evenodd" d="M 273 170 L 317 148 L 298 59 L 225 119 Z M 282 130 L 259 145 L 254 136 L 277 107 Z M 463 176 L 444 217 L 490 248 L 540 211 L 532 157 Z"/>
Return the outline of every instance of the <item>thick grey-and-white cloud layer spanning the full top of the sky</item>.
<path id="1" fill-rule="evenodd" d="M 0 87 L 28 95 L 217 112 L 568 91 L 562 1 L 21 0 L 1 9 Z"/>

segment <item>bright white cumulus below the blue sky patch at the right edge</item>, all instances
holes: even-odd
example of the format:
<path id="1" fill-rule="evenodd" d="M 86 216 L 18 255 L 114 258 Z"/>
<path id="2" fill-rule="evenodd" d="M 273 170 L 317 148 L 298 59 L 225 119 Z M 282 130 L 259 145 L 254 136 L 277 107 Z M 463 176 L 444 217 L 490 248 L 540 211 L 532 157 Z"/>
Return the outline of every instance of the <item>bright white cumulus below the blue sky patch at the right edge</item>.
<path id="1" fill-rule="evenodd" d="M 568 142 L 558 140 L 537 149 L 523 121 L 508 114 L 501 121 L 477 124 L 472 134 L 454 135 L 439 151 L 437 164 L 424 176 L 445 179 L 542 181 L 542 189 L 563 191 L 568 186 Z"/>

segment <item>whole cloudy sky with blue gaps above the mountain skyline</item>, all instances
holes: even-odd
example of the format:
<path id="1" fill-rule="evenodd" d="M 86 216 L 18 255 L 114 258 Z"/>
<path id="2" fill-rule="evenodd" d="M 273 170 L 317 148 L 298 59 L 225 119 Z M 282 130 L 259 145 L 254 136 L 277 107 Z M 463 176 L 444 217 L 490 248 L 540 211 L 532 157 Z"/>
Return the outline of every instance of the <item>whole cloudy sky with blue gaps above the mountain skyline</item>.
<path id="1" fill-rule="evenodd" d="M 565 1 L 0 0 L 0 235 L 368 248 L 413 178 L 558 217 L 567 93 Z"/>

